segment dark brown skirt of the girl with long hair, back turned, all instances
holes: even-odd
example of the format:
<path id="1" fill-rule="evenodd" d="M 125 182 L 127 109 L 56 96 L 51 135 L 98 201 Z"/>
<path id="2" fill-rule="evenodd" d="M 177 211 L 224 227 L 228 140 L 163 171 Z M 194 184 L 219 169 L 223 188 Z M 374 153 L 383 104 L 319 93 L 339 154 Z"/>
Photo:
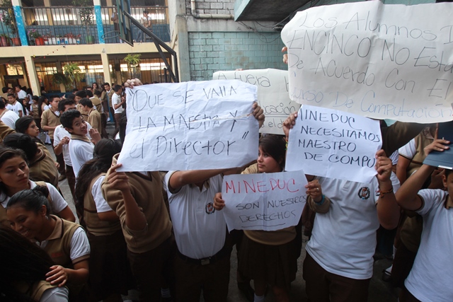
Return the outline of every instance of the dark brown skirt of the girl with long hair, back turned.
<path id="1" fill-rule="evenodd" d="M 127 246 L 122 231 L 108 236 L 87 232 L 90 253 L 90 300 L 101 301 L 111 294 L 126 294 L 133 289 L 134 277 L 127 260 Z"/>

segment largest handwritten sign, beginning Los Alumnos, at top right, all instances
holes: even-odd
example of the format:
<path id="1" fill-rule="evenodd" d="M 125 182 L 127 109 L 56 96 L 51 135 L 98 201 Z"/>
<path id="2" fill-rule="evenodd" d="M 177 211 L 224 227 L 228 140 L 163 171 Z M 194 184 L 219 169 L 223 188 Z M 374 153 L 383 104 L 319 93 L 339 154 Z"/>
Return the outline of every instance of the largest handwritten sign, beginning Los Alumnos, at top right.
<path id="1" fill-rule="evenodd" d="M 453 120 L 453 4 L 319 6 L 285 25 L 289 97 L 402 122 Z"/>

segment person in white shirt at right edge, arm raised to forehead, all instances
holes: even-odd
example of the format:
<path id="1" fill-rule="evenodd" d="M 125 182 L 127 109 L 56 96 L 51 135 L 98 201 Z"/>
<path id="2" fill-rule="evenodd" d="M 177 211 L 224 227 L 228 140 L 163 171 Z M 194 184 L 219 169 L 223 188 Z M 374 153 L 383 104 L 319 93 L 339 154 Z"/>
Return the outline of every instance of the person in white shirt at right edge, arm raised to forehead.
<path id="1" fill-rule="evenodd" d="M 450 143 L 445 139 L 435 139 L 425 148 L 425 154 L 449 149 L 445 144 Z M 442 175 L 447 190 L 420 190 L 434 170 L 435 167 L 422 165 L 396 194 L 389 195 L 403 209 L 415 211 L 423 217 L 420 247 L 404 282 L 405 288 L 400 292 L 401 302 L 453 301 L 449 282 L 453 278 L 453 172 L 445 169 L 445 175 Z"/>

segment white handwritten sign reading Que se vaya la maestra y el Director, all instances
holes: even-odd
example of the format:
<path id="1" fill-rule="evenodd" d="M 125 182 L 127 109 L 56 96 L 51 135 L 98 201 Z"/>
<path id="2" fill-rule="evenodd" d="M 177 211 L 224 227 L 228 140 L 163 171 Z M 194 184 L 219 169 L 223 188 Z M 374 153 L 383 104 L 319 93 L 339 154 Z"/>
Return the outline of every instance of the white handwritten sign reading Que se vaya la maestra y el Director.
<path id="1" fill-rule="evenodd" d="M 122 171 L 232 168 L 256 159 L 256 86 L 241 81 L 126 88 Z"/>

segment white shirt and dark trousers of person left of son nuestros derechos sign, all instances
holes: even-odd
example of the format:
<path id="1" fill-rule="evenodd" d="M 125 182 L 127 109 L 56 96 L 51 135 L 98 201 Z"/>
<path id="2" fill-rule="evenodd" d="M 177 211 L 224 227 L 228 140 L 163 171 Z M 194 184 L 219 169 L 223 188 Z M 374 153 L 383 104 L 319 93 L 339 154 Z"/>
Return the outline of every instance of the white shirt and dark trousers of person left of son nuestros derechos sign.
<path id="1" fill-rule="evenodd" d="M 169 190 L 175 171 L 164 178 L 178 257 L 175 259 L 176 299 L 226 301 L 229 286 L 231 245 L 226 243 L 224 215 L 214 209 L 213 199 L 222 191 L 222 175 L 197 185 Z"/>

